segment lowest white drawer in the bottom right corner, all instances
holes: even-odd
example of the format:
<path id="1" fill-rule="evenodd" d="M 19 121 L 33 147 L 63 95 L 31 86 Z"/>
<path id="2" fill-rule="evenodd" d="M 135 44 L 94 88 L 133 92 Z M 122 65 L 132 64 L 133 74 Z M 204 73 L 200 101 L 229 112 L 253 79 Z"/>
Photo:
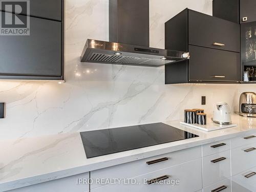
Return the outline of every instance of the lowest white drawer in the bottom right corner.
<path id="1" fill-rule="evenodd" d="M 256 191 L 256 167 L 232 177 L 233 192 Z"/>

